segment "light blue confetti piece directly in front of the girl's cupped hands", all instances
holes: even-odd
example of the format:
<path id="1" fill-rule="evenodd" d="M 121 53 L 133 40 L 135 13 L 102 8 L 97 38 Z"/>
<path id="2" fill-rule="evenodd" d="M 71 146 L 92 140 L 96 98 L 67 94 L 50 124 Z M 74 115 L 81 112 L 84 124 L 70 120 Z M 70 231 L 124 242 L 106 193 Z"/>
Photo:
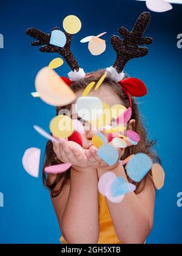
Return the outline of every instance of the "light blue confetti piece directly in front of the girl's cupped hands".
<path id="1" fill-rule="evenodd" d="M 118 151 L 109 144 L 101 146 L 97 151 L 97 155 L 109 166 L 115 165 L 119 158 Z"/>

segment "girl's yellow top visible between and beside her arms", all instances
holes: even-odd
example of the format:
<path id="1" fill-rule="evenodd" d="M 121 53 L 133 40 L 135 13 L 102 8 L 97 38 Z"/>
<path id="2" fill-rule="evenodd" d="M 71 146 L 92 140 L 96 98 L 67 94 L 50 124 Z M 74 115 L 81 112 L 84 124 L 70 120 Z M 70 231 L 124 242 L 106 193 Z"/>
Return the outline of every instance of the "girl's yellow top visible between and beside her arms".
<path id="1" fill-rule="evenodd" d="M 62 244 L 67 244 L 63 236 L 60 241 Z M 99 193 L 99 240 L 98 244 L 121 244 L 117 238 L 107 207 L 106 197 Z"/>

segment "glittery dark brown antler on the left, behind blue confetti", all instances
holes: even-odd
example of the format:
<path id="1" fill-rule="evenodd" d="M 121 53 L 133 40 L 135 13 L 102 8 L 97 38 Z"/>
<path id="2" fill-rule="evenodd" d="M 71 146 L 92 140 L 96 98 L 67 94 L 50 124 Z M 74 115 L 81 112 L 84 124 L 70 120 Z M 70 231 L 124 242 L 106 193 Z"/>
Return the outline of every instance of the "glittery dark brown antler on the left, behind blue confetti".
<path id="1" fill-rule="evenodd" d="M 52 29 L 52 31 L 53 30 L 59 30 L 59 27 L 55 27 Z M 72 69 L 72 71 L 74 71 L 74 69 L 76 69 L 76 71 L 79 71 L 79 64 L 78 62 L 76 62 L 76 59 L 70 50 L 70 45 L 72 43 L 72 35 L 65 32 L 67 41 L 65 46 L 61 48 L 59 46 L 54 46 L 49 43 L 51 34 L 46 34 L 39 29 L 33 28 L 27 29 L 25 33 L 37 40 L 31 44 L 32 46 L 42 46 L 41 48 L 39 48 L 39 51 L 61 54 L 70 66 L 70 68 Z"/>

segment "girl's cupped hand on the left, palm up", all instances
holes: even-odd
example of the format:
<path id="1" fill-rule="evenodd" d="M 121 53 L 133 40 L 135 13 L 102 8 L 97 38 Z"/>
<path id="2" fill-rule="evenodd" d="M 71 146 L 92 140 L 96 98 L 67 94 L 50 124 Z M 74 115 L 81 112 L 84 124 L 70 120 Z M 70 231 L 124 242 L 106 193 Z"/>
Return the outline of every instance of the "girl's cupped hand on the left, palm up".
<path id="1" fill-rule="evenodd" d="M 53 142 L 53 151 L 62 163 L 72 163 L 72 168 L 76 171 L 88 169 L 84 149 L 74 141 L 59 138 L 59 144 Z"/>

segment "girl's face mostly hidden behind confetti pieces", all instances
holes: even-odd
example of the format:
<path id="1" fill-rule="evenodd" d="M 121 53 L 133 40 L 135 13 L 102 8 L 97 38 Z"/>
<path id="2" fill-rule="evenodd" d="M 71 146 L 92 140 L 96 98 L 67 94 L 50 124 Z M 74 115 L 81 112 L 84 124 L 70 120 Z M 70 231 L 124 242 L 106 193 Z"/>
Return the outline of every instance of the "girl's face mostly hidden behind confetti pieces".
<path id="1" fill-rule="evenodd" d="M 78 92 L 75 93 L 77 98 L 82 96 L 83 91 L 84 90 L 79 90 Z M 122 101 L 120 96 L 118 96 L 118 94 L 115 93 L 115 91 L 112 89 L 112 87 L 110 87 L 109 85 L 106 85 L 106 84 L 105 85 L 103 84 L 96 91 L 95 90 L 90 91 L 89 96 L 98 97 L 102 102 L 108 104 L 110 107 L 112 107 L 113 105 L 116 105 L 116 104 L 124 105 L 124 102 Z M 75 104 L 75 102 L 73 102 L 73 104 Z M 73 106 L 75 106 L 75 105 L 73 105 Z M 72 119 L 76 119 L 76 118 L 79 119 L 79 116 L 76 115 L 75 107 L 71 108 L 71 113 L 72 113 Z M 130 123 L 132 124 L 132 126 L 130 127 L 131 129 L 133 128 L 133 121 L 135 121 L 135 120 L 130 120 Z M 92 130 L 92 127 L 90 127 L 90 126 L 88 129 L 88 124 L 85 124 L 85 125 L 87 126 L 87 129 L 84 134 L 81 134 L 81 137 L 83 138 L 83 148 L 89 149 L 90 146 L 92 146 L 92 137 L 98 131 Z M 104 131 L 99 130 L 99 132 L 103 133 L 104 136 L 107 137 L 107 133 L 105 133 Z"/>

